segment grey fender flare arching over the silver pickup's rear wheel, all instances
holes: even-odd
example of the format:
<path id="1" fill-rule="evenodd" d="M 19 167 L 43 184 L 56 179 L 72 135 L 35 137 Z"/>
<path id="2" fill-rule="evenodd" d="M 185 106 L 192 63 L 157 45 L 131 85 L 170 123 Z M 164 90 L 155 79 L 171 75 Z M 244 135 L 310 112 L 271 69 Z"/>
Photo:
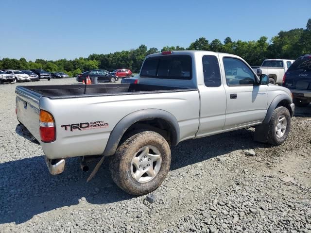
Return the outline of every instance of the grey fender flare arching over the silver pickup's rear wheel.
<path id="1" fill-rule="evenodd" d="M 161 109 L 143 109 L 136 112 L 130 113 L 127 116 L 124 116 L 113 128 L 110 133 L 106 148 L 104 150 L 104 156 L 113 155 L 120 143 L 120 140 L 126 130 L 131 127 L 134 123 L 140 120 L 148 120 L 152 118 L 160 118 L 165 120 L 171 126 L 171 144 L 176 146 L 179 142 L 180 132 L 179 124 L 175 116 L 171 113 L 161 110 Z"/>

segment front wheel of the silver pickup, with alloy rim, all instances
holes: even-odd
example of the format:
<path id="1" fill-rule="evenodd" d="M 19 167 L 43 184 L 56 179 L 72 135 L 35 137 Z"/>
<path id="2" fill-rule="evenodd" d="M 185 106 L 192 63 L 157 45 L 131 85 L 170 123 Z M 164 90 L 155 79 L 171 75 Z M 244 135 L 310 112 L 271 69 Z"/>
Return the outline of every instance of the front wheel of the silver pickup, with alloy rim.
<path id="1" fill-rule="evenodd" d="M 286 140 L 290 130 L 290 112 L 285 107 L 276 108 L 269 123 L 268 143 L 281 145 Z"/>

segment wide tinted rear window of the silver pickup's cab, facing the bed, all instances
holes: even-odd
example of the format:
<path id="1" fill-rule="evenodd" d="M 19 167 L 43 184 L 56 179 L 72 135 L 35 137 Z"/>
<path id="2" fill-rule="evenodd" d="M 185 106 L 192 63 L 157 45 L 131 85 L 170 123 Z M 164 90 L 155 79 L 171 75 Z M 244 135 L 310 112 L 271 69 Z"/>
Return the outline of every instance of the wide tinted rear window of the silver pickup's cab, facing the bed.
<path id="1" fill-rule="evenodd" d="M 192 78 L 192 61 L 188 55 L 171 55 L 147 58 L 141 68 L 141 77 L 157 79 Z"/>

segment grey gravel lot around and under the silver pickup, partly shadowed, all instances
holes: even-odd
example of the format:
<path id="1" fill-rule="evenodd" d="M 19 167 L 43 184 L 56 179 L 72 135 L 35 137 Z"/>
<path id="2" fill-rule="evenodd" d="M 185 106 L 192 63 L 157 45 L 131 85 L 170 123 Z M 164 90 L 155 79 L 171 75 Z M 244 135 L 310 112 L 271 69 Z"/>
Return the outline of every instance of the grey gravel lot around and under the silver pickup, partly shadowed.
<path id="1" fill-rule="evenodd" d="M 65 83 L 76 82 L 0 85 L 1 233 L 311 233 L 311 105 L 296 109 L 278 147 L 251 129 L 180 143 L 150 203 L 121 191 L 107 164 L 90 183 L 76 158 L 50 175 L 40 146 L 15 132 L 17 85 Z"/>

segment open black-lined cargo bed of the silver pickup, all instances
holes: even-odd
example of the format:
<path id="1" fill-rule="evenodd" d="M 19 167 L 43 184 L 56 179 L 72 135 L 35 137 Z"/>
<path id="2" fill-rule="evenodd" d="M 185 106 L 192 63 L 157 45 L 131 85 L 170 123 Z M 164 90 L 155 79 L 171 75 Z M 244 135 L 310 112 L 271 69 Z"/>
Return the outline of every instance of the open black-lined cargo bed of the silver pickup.
<path id="1" fill-rule="evenodd" d="M 146 84 L 92 84 L 92 85 L 41 85 L 18 86 L 17 90 L 27 89 L 37 97 L 50 99 L 81 98 L 91 96 L 146 94 L 195 90 L 190 88 L 157 86 Z"/>

